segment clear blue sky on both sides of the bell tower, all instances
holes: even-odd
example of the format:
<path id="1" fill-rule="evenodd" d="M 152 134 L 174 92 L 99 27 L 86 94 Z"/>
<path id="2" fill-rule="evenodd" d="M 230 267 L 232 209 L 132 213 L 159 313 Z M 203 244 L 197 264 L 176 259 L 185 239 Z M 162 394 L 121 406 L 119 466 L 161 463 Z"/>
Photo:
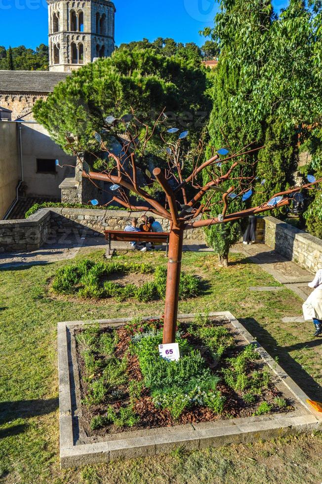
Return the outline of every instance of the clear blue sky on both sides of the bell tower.
<path id="1" fill-rule="evenodd" d="M 146 37 L 171 37 L 180 42 L 204 39 L 199 31 L 213 24 L 217 11 L 214 0 L 115 0 L 116 43 Z M 281 8 L 285 0 L 276 0 Z M 47 4 L 45 0 L 0 0 L 0 45 L 47 44 Z"/>

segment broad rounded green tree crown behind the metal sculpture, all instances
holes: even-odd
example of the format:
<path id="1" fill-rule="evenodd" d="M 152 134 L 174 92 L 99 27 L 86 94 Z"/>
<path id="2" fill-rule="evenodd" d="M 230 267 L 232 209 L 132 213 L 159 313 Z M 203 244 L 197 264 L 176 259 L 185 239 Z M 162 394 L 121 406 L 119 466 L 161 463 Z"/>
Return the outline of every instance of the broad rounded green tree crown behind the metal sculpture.
<path id="1" fill-rule="evenodd" d="M 34 114 L 67 152 L 66 133 L 77 138 L 79 151 L 89 153 L 95 144 L 93 131 L 102 132 L 108 116 L 119 118 L 131 108 L 148 125 L 165 108 L 168 127 L 189 129 L 193 144 L 203 128 L 198 112 L 210 111 L 205 89 L 201 66 L 191 67 L 185 59 L 167 58 L 154 50 L 122 48 L 59 83 L 46 101 L 36 103 Z M 158 147 L 154 155 L 158 156 Z"/>

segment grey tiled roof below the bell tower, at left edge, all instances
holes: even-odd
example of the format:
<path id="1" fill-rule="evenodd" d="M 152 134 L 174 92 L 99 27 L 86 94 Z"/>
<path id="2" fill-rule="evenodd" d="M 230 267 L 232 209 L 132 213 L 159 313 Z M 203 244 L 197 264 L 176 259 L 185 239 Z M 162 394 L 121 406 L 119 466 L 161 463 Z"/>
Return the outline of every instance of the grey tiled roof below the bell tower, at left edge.
<path id="1" fill-rule="evenodd" d="M 52 92 L 67 72 L 0 71 L 0 92 Z"/>

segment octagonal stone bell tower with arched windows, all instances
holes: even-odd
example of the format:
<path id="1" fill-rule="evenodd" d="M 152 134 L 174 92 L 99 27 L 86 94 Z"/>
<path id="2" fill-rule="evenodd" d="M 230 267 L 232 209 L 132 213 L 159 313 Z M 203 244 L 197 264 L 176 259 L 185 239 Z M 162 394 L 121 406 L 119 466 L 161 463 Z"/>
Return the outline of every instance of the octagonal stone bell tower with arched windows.
<path id="1" fill-rule="evenodd" d="M 47 0 L 49 71 L 69 72 L 115 47 L 116 8 L 109 0 Z"/>

